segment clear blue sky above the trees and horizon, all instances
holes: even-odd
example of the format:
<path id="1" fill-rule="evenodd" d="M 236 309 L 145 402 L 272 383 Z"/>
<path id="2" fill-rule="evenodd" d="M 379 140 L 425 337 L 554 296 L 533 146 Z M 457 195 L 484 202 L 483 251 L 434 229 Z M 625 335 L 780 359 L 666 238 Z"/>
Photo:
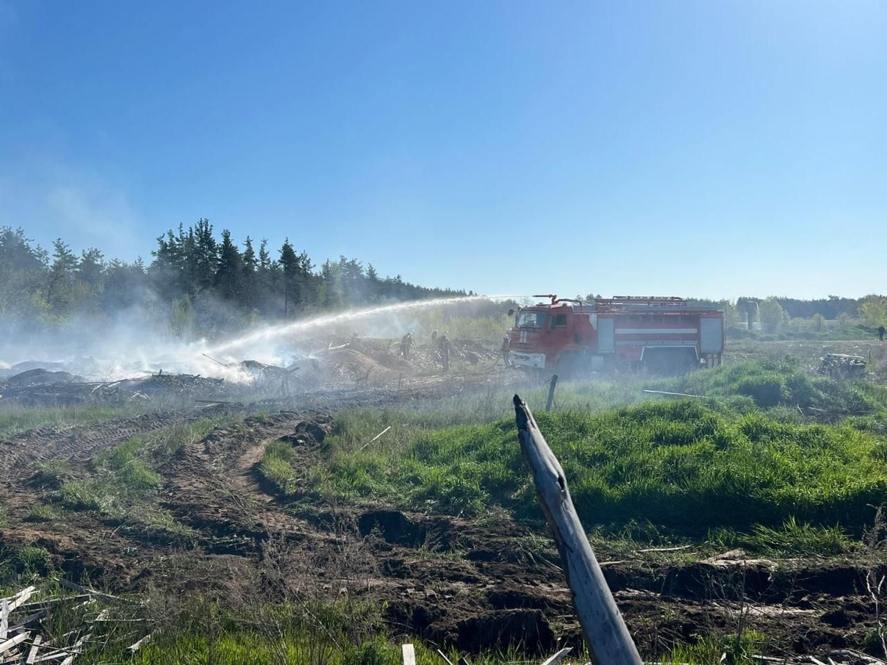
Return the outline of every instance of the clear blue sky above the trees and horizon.
<path id="1" fill-rule="evenodd" d="M 0 0 L 0 224 L 482 293 L 887 291 L 887 3 Z"/>

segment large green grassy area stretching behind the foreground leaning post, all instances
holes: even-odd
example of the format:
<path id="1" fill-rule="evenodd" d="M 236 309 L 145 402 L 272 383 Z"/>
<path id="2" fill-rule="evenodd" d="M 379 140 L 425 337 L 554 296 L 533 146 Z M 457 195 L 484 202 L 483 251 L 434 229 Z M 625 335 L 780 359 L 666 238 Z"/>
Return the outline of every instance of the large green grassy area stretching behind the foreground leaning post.
<path id="1" fill-rule="evenodd" d="M 708 399 L 614 408 L 640 402 L 642 385 Z M 538 405 L 543 393 L 526 398 Z M 500 507 L 538 522 L 506 395 L 472 403 L 347 411 L 335 419 L 323 465 L 302 473 L 278 442 L 263 472 L 281 493 L 305 501 L 382 501 L 464 516 Z M 750 544 L 831 552 L 860 535 L 873 506 L 887 504 L 885 404 L 881 387 L 811 378 L 789 359 L 646 383 L 568 384 L 556 411 L 536 415 L 589 530 L 615 535 L 646 521 L 670 536 L 734 534 Z M 307 476 L 307 488 L 295 489 L 297 476 Z"/>

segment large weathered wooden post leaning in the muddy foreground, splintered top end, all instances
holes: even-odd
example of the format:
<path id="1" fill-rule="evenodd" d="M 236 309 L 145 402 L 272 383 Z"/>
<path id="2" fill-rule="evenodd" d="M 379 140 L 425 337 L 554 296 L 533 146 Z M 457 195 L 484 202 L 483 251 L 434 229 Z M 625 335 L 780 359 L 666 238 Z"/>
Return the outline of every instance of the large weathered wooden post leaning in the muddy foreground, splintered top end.
<path id="1" fill-rule="evenodd" d="M 514 416 L 523 457 L 530 465 L 536 492 L 561 563 L 585 642 L 597 665 L 642 665 L 638 647 L 616 607 L 585 536 L 560 462 L 539 431 L 530 408 L 514 395 Z"/>

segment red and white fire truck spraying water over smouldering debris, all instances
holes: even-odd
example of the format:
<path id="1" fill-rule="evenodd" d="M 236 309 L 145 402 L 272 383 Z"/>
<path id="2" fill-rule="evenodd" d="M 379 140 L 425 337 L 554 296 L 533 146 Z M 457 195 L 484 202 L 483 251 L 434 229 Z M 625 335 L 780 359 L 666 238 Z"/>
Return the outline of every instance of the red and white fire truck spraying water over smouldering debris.
<path id="1" fill-rule="evenodd" d="M 617 368 L 677 373 L 721 364 L 723 309 L 658 296 L 533 297 L 550 302 L 509 311 L 509 360 L 516 367 L 570 375 Z"/>

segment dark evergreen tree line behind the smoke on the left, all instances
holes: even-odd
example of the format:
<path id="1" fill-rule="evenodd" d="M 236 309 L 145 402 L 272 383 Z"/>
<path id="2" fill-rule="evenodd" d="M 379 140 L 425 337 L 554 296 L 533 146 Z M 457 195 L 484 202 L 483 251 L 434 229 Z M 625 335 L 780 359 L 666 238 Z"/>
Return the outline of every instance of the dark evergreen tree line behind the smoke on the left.
<path id="1" fill-rule="evenodd" d="M 248 236 L 239 245 L 228 230 L 217 236 L 207 219 L 167 231 L 151 256 L 124 262 L 95 247 L 75 254 L 63 239 L 48 251 L 21 228 L 0 227 L 0 332 L 138 309 L 172 332 L 212 334 L 257 320 L 467 294 L 381 278 L 372 264 L 345 256 L 316 266 L 288 238 L 277 248 Z"/>

